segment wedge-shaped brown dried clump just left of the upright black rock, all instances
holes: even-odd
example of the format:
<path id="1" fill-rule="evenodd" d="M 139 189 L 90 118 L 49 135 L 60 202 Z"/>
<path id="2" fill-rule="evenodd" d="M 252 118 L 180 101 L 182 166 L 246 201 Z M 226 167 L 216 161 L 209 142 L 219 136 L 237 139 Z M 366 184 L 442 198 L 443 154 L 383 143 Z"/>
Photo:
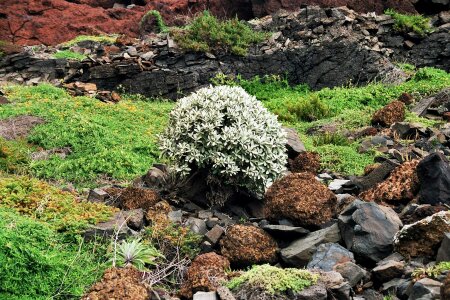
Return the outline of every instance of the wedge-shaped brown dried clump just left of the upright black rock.
<path id="1" fill-rule="evenodd" d="M 412 200 L 419 189 L 416 173 L 418 164 L 419 160 L 403 163 L 395 168 L 385 181 L 359 194 L 359 198 L 378 203 Z"/>

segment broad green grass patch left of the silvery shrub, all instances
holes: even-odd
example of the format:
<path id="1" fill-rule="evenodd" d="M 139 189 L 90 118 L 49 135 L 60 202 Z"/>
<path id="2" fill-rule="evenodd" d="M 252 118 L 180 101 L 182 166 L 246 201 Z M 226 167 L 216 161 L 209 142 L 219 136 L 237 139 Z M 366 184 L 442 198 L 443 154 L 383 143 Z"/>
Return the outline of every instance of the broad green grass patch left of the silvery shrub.
<path id="1" fill-rule="evenodd" d="M 95 186 L 99 178 L 130 180 L 158 161 L 156 135 L 165 127 L 170 102 L 123 99 L 105 104 L 89 97 L 71 97 L 43 84 L 7 88 L 11 105 L 0 108 L 0 119 L 34 115 L 46 123 L 35 127 L 27 142 L 44 149 L 70 147 L 65 159 L 22 162 L 21 168 L 45 179 Z M 9 167 L 11 168 L 11 166 Z"/>

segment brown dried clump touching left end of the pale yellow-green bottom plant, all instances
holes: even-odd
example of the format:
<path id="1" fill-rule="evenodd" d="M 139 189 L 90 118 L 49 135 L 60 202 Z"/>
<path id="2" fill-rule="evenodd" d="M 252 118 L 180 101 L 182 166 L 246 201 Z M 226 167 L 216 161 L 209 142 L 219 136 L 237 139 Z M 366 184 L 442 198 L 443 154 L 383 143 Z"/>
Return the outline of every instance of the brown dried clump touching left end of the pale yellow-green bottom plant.
<path id="1" fill-rule="evenodd" d="M 214 252 L 197 256 L 187 271 L 180 296 L 192 299 L 195 292 L 216 290 L 221 286 L 221 281 L 227 279 L 225 270 L 229 268 L 228 259 Z"/>

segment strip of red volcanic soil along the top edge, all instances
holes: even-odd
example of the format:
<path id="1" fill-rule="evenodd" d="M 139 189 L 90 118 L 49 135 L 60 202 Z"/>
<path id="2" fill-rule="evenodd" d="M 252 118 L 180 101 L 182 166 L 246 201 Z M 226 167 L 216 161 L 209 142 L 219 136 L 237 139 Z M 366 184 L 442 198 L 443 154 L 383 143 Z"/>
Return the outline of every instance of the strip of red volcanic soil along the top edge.
<path id="1" fill-rule="evenodd" d="M 208 9 L 219 17 L 242 19 L 264 16 L 280 8 L 299 9 L 302 4 L 344 6 L 359 12 L 383 12 L 393 7 L 415 12 L 411 0 L 0 0 L 0 40 L 19 45 L 55 45 L 80 35 L 139 34 L 139 21 L 151 9 L 161 12 L 169 25 Z M 113 8 L 115 3 L 136 6 Z"/>

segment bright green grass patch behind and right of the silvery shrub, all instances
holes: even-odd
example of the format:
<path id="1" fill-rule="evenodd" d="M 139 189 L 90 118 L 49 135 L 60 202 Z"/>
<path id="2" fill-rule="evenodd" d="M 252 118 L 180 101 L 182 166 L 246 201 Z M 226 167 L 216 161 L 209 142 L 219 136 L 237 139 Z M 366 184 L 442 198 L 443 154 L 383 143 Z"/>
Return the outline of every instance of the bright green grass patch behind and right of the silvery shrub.
<path id="1" fill-rule="evenodd" d="M 365 166 L 373 163 L 375 151 L 358 153 L 360 141 L 346 144 L 338 136 L 315 137 L 306 134 L 312 127 L 337 124 L 343 130 L 356 130 L 370 125 L 372 114 L 387 103 L 397 99 L 402 93 L 429 95 L 450 85 L 450 74 L 433 68 L 423 68 L 412 74 L 411 80 L 399 85 L 371 83 L 362 87 L 348 86 L 325 88 L 309 91 L 304 85 L 291 87 L 285 78 L 265 76 L 245 80 L 241 77 L 230 78 L 218 75 L 214 84 L 240 85 L 247 92 L 255 95 L 280 121 L 288 127 L 295 128 L 307 150 L 318 152 L 322 167 L 330 171 L 349 175 L 359 175 Z M 310 113 L 319 112 L 313 117 Z M 414 121 L 425 126 L 434 126 L 431 121 L 407 113 L 407 121 Z M 328 141 L 327 141 L 328 139 Z"/>

